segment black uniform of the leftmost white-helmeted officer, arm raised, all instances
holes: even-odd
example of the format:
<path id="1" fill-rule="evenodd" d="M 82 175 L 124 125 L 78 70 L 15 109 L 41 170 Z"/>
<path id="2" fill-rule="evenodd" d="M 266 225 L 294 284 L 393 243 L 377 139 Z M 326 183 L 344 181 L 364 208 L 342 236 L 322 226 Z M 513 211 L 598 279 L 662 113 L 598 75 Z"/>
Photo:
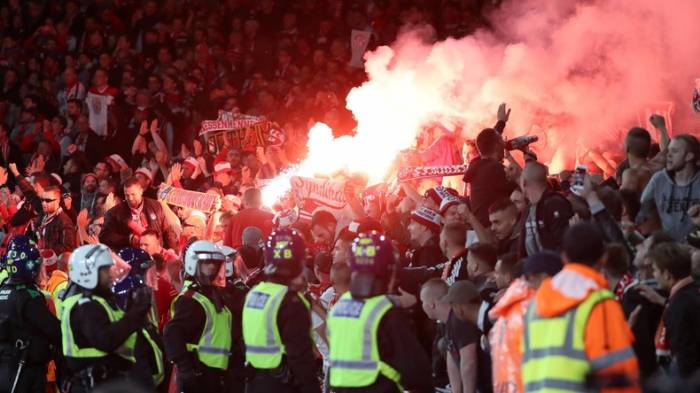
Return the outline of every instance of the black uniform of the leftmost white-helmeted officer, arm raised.
<path id="1" fill-rule="evenodd" d="M 108 355 L 100 358 L 68 357 L 68 368 L 73 375 L 71 392 L 86 391 L 84 382 L 93 378 L 95 383 L 132 374 L 133 363 L 116 355 L 115 351 L 129 336 L 146 326 L 149 304 L 135 304 L 117 322 L 111 322 L 104 307 L 91 300 L 100 296 L 117 308 L 113 295 L 99 288 L 84 293 L 70 313 L 70 326 L 75 343 L 81 348 L 96 348 Z M 138 378 L 137 378 L 138 379 Z"/>

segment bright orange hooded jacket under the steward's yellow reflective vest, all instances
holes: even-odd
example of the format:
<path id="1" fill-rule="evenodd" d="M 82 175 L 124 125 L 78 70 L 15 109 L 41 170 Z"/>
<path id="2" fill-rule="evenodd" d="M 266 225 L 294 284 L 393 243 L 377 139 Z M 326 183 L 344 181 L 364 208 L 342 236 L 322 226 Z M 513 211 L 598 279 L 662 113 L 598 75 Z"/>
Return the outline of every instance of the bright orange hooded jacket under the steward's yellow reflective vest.
<path id="1" fill-rule="evenodd" d="M 535 294 L 535 312 L 540 317 L 556 317 L 581 304 L 592 292 L 607 288 L 605 278 L 593 268 L 568 263 L 557 275 L 542 283 Z M 604 300 L 593 307 L 586 323 L 584 346 L 589 361 L 599 363 L 596 380 L 603 382 L 606 377 L 624 376 L 632 385 L 603 388 L 601 393 L 641 392 L 633 341 L 634 336 L 617 301 Z"/>

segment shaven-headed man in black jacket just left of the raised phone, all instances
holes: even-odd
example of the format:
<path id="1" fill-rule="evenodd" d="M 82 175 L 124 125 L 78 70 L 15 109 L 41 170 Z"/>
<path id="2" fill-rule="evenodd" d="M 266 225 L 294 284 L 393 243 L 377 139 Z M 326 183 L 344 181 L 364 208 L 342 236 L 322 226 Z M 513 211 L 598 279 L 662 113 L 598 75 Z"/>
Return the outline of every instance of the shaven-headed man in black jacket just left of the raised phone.
<path id="1" fill-rule="evenodd" d="M 539 162 L 525 166 L 520 183 L 529 203 L 521 220 L 521 256 L 559 250 L 569 219 L 574 215 L 571 203 L 549 188 L 547 167 Z"/>

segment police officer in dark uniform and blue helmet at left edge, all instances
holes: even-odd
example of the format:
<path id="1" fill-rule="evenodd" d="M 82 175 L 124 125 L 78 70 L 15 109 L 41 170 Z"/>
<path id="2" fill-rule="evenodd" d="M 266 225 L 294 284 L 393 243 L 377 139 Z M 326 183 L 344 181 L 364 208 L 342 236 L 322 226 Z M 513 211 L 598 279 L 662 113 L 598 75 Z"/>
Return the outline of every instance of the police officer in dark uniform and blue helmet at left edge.
<path id="1" fill-rule="evenodd" d="M 27 236 L 15 236 L 2 261 L 7 280 L 0 286 L 0 392 L 43 393 L 61 326 L 35 283 L 39 249 Z"/>

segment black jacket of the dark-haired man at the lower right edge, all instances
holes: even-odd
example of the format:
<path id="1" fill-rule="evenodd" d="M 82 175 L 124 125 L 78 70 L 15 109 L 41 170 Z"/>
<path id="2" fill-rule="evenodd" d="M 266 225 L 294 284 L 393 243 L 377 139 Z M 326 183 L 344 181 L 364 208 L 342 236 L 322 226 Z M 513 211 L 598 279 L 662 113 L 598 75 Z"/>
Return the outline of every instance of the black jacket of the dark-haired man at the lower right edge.
<path id="1" fill-rule="evenodd" d="M 673 362 L 688 378 L 700 370 L 700 282 L 693 281 L 672 293 L 664 313 L 666 337 Z"/>

